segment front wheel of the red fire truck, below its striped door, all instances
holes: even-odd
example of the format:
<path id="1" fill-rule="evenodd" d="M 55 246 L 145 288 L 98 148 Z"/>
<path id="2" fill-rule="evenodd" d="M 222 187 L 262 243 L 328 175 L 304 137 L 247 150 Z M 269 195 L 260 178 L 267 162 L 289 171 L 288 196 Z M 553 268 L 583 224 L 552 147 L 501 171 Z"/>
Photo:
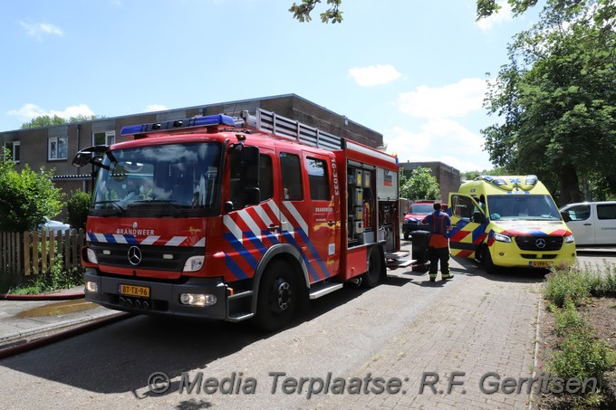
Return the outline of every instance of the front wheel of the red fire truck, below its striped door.
<path id="1" fill-rule="evenodd" d="M 256 325 L 269 331 L 283 328 L 293 318 L 298 299 L 293 268 L 284 261 L 272 262 L 259 285 Z"/>

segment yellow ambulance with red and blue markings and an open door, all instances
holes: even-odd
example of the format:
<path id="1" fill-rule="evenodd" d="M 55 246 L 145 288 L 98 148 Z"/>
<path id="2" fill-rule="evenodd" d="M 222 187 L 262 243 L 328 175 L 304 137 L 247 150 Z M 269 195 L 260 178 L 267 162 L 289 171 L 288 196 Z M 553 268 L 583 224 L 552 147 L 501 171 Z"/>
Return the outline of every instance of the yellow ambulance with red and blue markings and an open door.
<path id="1" fill-rule="evenodd" d="M 550 268 L 575 262 L 573 233 L 534 175 L 477 176 L 449 194 L 453 256 L 498 267 Z"/>

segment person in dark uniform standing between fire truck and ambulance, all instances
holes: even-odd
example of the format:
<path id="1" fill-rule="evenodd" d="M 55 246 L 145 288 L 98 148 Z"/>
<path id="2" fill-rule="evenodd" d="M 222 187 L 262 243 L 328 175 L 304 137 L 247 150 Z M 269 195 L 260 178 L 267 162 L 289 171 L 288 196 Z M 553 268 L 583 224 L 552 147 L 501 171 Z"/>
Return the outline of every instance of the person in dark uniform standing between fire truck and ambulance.
<path id="1" fill-rule="evenodd" d="M 449 215 L 440 210 L 440 202 L 434 203 L 434 212 L 426 216 L 421 224 L 430 226 L 430 242 L 428 244 L 428 260 L 430 261 L 430 281 L 437 280 L 438 262 L 440 262 L 440 274 L 443 281 L 453 279 L 449 273 L 449 231 L 451 220 Z"/>

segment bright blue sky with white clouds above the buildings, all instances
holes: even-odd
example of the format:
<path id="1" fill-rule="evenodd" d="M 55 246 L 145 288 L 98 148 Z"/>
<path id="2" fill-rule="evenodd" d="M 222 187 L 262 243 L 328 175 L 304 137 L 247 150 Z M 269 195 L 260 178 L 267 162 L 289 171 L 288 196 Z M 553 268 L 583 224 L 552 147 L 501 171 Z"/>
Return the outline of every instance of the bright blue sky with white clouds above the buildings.
<path id="1" fill-rule="evenodd" d="M 493 167 L 486 81 L 539 11 L 477 23 L 475 0 L 344 0 L 342 24 L 321 23 L 324 5 L 302 24 L 293 0 L 2 3 L 0 131 L 294 93 L 382 133 L 401 162 L 462 172 Z"/>

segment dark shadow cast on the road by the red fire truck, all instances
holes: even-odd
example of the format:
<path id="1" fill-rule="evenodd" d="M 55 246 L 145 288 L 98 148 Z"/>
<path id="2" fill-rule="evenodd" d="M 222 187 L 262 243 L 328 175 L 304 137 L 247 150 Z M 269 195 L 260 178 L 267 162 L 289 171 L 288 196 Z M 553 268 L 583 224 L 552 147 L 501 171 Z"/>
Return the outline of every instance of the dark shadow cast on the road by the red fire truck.
<path id="1" fill-rule="evenodd" d="M 292 324 L 281 332 L 369 291 L 349 288 L 312 300 L 309 310 L 299 312 Z M 210 363 L 273 336 L 274 333 L 255 329 L 249 322 L 140 315 L 5 358 L 0 360 L 0 366 L 94 393 L 132 392 L 137 398 L 143 398 L 151 396 L 148 381 L 154 373 L 161 372 L 173 379 L 183 372 L 201 369 L 205 380 Z M 176 382 L 166 394 L 177 391 Z"/>

